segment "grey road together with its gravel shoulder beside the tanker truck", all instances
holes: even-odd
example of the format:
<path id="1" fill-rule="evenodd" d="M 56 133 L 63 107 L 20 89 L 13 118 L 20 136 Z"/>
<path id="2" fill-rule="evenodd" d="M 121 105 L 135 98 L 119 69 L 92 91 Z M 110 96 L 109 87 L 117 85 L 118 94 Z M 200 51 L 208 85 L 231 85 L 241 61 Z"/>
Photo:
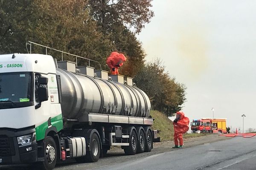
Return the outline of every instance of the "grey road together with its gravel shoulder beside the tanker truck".
<path id="1" fill-rule="evenodd" d="M 124 156 L 121 149 L 96 163 L 58 164 L 56 170 L 255 170 L 256 137 L 235 137 L 207 143 L 218 136 L 189 139 L 183 149 L 171 149 L 171 144 L 161 144 L 151 153 Z M 196 141 L 199 139 L 198 141 Z M 220 140 L 220 139 L 218 139 Z M 200 143 L 201 145 L 197 145 Z M 166 145 L 166 146 L 165 146 Z M 162 148 L 162 149 L 161 149 Z M 34 170 L 33 165 L 0 166 L 1 170 Z"/>

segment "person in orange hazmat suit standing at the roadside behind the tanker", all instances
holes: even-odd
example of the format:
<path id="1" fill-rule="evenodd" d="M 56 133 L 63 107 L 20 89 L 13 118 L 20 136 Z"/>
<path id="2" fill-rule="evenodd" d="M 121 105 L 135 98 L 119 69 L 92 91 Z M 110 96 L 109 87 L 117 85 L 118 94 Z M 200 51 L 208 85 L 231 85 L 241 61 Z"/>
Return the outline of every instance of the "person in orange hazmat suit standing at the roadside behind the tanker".
<path id="1" fill-rule="evenodd" d="M 176 113 L 176 119 L 173 121 L 173 126 L 175 146 L 172 148 L 182 148 L 183 134 L 189 130 L 189 118 L 187 118 L 182 111 L 178 111 Z M 178 145 L 178 140 L 180 145 Z"/>

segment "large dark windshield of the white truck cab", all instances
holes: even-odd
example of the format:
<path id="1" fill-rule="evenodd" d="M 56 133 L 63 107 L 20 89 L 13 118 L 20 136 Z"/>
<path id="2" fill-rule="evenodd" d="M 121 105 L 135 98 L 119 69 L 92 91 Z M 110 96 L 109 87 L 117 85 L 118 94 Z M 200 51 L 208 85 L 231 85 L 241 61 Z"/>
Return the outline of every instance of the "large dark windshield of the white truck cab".
<path id="1" fill-rule="evenodd" d="M 0 73 L 0 109 L 34 105 L 32 73 Z"/>

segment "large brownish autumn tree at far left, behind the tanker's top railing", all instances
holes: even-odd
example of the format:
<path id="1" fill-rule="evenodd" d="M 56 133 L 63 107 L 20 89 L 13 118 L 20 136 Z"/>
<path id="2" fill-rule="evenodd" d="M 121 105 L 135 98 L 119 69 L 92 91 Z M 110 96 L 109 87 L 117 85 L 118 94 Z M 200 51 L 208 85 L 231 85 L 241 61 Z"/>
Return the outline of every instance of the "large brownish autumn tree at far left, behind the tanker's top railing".
<path id="1" fill-rule="evenodd" d="M 84 0 L 0 1 L 0 51 L 26 52 L 25 42 L 34 41 L 76 55 L 104 61 L 110 54 L 110 40 L 97 31 L 84 8 Z M 2 19 L 3 18 L 3 19 Z M 33 52 L 45 52 L 33 48 Z M 61 54 L 49 51 L 54 57 Z M 67 58 L 72 60 L 72 58 Z"/>

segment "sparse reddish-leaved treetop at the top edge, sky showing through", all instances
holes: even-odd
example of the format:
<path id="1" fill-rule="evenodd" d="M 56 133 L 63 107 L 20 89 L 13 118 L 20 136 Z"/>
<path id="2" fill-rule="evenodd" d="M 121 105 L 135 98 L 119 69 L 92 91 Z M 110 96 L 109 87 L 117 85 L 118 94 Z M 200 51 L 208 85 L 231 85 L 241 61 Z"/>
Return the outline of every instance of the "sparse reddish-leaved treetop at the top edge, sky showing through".
<path id="1" fill-rule="evenodd" d="M 89 7 L 93 20 L 106 33 L 113 32 L 113 27 L 133 27 L 136 33 L 144 28 L 154 16 L 150 9 L 152 0 L 89 0 Z M 119 25 L 119 26 L 118 26 Z"/>

